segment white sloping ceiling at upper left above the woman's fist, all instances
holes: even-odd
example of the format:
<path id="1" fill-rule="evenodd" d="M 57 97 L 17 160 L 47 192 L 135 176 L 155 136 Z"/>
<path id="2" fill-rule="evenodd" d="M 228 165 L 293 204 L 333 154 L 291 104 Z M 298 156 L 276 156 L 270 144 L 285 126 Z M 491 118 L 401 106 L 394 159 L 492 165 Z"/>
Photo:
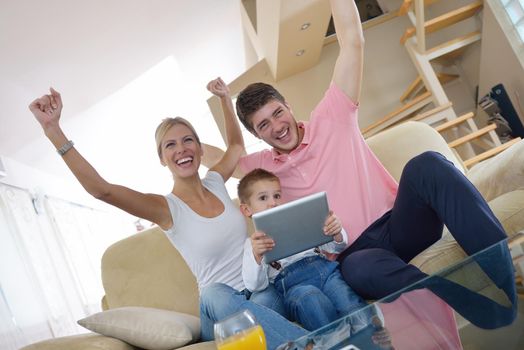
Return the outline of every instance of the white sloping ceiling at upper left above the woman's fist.
<path id="1" fill-rule="evenodd" d="M 20 152 L 42 136 L 27 106 L 49 86 L 67 96 L 63 118 L 81 118 L 167 57 L 191 77 L 188 94 L 195 86 L 205 93 L 217 75 L 235 78 L 245 69 L 239 6 L 239 0 L 2 0 L 0 156 L 30 163 L 28 153 L 35 159 L 50 152 Z"/>

